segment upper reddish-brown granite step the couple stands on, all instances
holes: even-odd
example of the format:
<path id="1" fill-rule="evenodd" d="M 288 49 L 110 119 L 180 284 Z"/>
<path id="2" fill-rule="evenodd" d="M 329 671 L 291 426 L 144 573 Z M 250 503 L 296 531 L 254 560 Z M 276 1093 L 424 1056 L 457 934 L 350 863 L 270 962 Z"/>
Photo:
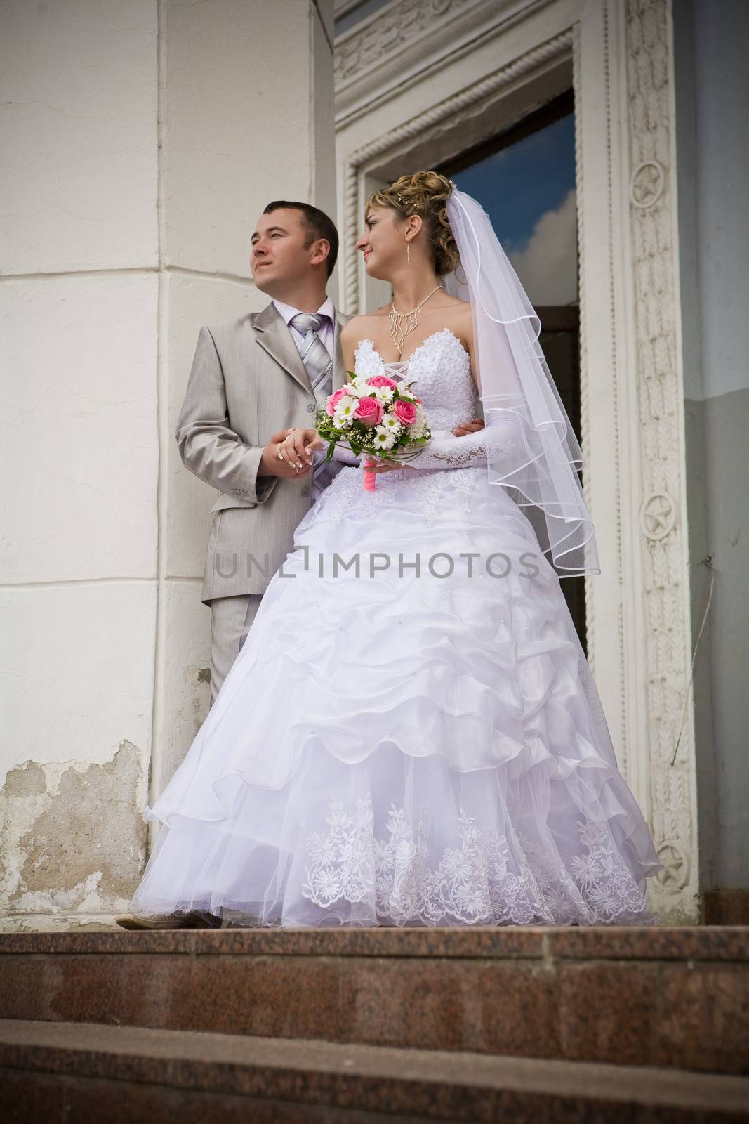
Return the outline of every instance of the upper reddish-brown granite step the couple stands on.
<path id="1" fill-rule="evenodd" d="M 9 1018 L 749 1072 L 749 930 L 0 935 Z"/>

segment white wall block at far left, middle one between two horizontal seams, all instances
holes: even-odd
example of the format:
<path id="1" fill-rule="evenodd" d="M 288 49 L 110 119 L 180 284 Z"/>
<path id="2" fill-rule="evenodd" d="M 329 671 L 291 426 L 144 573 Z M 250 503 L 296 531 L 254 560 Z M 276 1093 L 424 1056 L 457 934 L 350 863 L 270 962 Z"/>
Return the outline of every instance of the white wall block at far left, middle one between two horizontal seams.
<path id="1" fill-rule="evenodd" d="M 156 572 L 153 273 L 0 285 L 0 581 Z"/>

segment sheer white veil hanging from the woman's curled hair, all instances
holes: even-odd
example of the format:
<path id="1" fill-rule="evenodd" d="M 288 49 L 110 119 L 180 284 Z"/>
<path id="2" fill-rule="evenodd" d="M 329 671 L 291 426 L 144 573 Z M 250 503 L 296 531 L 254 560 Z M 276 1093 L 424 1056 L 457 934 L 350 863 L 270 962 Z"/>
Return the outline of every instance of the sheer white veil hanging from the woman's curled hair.
<path id="1" fill-rule="evenodd" d="M 471 301 L 484 417 L 501 427 L 487 434 L 490 482 L 528 508 L 559 578 L 600 573 L 583 454 L 538 342 L 540 319 L 481 203 L 453 184 L 447 215 L 460 265 L 446 289 Z"/>

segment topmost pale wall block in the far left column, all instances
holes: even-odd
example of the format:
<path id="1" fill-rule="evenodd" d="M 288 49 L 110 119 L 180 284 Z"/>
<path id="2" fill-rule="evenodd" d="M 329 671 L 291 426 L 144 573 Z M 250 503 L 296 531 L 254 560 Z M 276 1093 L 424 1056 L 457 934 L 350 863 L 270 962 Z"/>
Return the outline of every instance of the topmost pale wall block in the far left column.
<path id="1" fill-rule="evenodd" d="M 0 272 L 158 261 L 156 0 L 7 0 Z"/>

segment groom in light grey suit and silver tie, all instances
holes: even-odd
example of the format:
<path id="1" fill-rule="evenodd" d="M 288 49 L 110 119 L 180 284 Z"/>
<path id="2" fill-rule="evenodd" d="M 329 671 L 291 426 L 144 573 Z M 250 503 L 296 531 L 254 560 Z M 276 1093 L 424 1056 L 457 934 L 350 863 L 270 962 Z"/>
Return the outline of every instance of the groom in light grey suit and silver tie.
<path id="1" fill-rule="evenodd" d="M 340 329 L 349 317 L 326 294 L 336 227 L 317 207 L 275 200 L 252 246 L 255 287 L 272 301 L 200 329 L 176 428 L 185 468 L 220 491 L 202 589 L 211 608 L 211 705 L 296 526 L 342 466 L 326 465 L 325 450 L 307 454 L 299 434 L 278 455 L 289 430 L 310 429 L 346 382 Z M 474 418 L 454 433 L 482 426 Z M 349 463 L 358 463 L 353 454 Z"/>

